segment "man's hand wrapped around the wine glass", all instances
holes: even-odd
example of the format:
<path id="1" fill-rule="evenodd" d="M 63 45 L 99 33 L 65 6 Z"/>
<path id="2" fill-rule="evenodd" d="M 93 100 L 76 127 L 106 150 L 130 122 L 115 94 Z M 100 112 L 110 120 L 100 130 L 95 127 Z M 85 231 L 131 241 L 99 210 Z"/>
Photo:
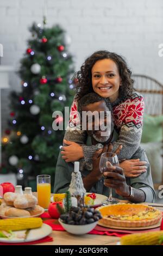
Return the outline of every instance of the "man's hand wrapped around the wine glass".
<path id="1" fill-rule="evenodd" d="M 108 168 L 107 172 L 104 172 L 105 176 L 104 185 L 115 189 L 115 192 L 122 197 L 128 197 L 130 194 L 129 186 L 126 183 L 126 178 L 123 173 L 123 169 L 119 166 L 112 166 L 110 162 L 106 163 Z"/>

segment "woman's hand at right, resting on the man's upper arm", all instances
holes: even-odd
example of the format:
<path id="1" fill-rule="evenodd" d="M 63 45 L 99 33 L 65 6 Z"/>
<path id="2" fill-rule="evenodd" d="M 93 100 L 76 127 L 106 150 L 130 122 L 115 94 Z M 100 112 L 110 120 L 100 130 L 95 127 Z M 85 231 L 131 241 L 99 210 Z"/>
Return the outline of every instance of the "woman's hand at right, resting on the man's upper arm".
<path id="1" fill-rule="evenodd" d="M 142 173 L 147 172 L 147 162 L 140 161 L 139 159 L 125 160 L 120 163 L 124 175 L 128 178 L 136 178 Z"/>

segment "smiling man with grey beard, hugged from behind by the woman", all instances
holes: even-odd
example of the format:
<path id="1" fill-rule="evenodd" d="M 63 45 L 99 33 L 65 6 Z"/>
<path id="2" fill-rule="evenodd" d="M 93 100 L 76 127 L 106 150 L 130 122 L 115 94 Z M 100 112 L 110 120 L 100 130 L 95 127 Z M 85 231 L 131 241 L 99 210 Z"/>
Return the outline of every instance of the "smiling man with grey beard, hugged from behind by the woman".
<path id="1" fill-rule="evenodd" d="M 147 171 L 136 178 L 126 178 L 121 167 L 108 167 L 107 172 L 99 170 L 101 154 L 111 150 L 114 124 L 110 115 L 111 105 L 108 99 L 90 93 L 79 102 L 79 112 L 82 116 L 82 128 L 86 129 L 91 143 L 96 147 L 93 156 L 93 168 L 90 171 L 86 164 L 80 165 L 84 187 L 87 192 L 108 196 L 112 187 L 112 196 L 118 199 L 128 199 L 131 202 L 154 202 L 155 192 L 151 176 L 151 167 L 145 152 L 137 150 L 132 159 L 147 162 Z M 85 113 L 84 113 L 85 112 Z M 101 115 L 102 113 L 102 115 Z M 121 150 L 121 146 L 117 149 Z M 83 161 L 83 160 L 82 160 Z M 120 164 L 121 166 L 121 164 Z M 73 163 L 68 163 L 59 154 L 55 170 L 54 193 L 65 193 L 71 182 Z"/>

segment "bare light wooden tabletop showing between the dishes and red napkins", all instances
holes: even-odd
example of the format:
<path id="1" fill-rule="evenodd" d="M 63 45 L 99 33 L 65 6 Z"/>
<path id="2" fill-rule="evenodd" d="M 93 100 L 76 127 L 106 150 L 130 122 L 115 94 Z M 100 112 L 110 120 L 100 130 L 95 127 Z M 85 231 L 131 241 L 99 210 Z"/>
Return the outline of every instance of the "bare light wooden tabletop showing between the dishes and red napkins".
<path id="1" fill-rule="evenodd" d="M 122 203 L 129 203 L 122 200 Z M 163 211 L 163 204 L 143 203 L 155 206 Z M 116 245 L 120 241 L 120 237 L 108 235 L 72 235 L 67 231 L 52 231 L 50 235 L 53 237 L 53 242 L 39 243 L 39 245 Z"/>

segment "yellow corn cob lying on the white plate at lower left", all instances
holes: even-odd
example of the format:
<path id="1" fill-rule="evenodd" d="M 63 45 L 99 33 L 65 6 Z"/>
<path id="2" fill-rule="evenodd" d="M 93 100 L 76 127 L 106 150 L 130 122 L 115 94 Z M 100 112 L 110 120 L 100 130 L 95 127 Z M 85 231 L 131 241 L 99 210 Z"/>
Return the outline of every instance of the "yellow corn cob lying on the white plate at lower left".
<path id="1" fill-rule="evenodd" d="M 0 230 L 23 230 L 31 228 L 40 228 L 42 225 L 41 218 L 7 218 L 0 220 Z"/>

